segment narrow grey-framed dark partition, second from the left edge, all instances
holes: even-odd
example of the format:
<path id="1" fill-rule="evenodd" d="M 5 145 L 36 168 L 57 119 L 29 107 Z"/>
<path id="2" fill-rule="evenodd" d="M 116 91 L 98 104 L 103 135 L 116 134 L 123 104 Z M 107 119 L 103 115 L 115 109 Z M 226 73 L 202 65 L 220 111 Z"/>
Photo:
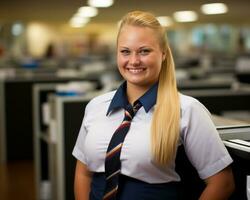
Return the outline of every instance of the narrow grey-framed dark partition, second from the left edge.
<path id="1" fill-rule="evenodd" d="M 33 144 L 37 199 L 45 198 L 42 192 L 49 183 L 49 145 L 46 141 L 48 126 L 43 123 L 42 106 L 55 92 L 57 83 L 36 83 L 33 85 Z"/>

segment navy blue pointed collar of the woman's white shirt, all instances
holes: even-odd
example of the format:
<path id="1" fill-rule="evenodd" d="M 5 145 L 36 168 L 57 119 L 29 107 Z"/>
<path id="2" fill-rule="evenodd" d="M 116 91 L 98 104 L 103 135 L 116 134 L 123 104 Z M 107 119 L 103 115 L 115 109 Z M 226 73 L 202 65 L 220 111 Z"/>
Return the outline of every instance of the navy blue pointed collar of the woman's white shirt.
<path id="1" fill-rule="evenodd" d="M 107 115 L 110 112 L 117 110 L 119 108 L 125 108 L 129 104 L 126 94 L 126 89 L 127 89 L 127 82 L 124 81 L 117 89 L 113 99 L 111 100 L 111 103 L 107 111 Z M 138 101 L 141 102 L 146 112 L 148 112 L 156 103 L 157 89 L 158 89 L 158 83 L 155 83 L 144 95 L 142 95 L 138 99 Z"/>

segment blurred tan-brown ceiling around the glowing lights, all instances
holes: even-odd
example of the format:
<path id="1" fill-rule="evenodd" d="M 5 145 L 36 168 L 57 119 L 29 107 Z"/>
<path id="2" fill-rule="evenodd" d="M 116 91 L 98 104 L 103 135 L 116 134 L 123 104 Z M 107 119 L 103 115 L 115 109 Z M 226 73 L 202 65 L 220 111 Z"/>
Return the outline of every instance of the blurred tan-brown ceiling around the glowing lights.
<path id="1" fill-rule="evenodd" d="M 67 23 L 80 6 L 86 6 L 86 0 L 1 0 L 0 22 L 43 21 L 50 23 Z M 200 6 L 209 1 L 204 0 L 115 0 L 110 8 L 99 9 L 99 15 L 93 23 L 117 23 L 131 10 L 146 10 L 156 15 L 172 16 L 174 11 L 195 10 L 199 22 L 248 23 L 250 24 L 250 0 L 220 1 L 228 5 L 229 12 L 216 16 L 205 16 Z M 213 1 L 215 2 L 215 1 Z"/>

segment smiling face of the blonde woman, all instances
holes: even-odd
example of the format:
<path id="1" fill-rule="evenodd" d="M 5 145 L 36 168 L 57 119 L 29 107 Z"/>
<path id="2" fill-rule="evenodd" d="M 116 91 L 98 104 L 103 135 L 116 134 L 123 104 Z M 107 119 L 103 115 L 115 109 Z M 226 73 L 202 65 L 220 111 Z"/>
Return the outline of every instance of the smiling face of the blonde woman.
<path id="1" fill-rule="evenodd" d="M 130 25 L 122 28 L 117 41 L 117 64 L 128 86 L 152 86 L 158 81 L 164 59 L 153 29 Z"/>

